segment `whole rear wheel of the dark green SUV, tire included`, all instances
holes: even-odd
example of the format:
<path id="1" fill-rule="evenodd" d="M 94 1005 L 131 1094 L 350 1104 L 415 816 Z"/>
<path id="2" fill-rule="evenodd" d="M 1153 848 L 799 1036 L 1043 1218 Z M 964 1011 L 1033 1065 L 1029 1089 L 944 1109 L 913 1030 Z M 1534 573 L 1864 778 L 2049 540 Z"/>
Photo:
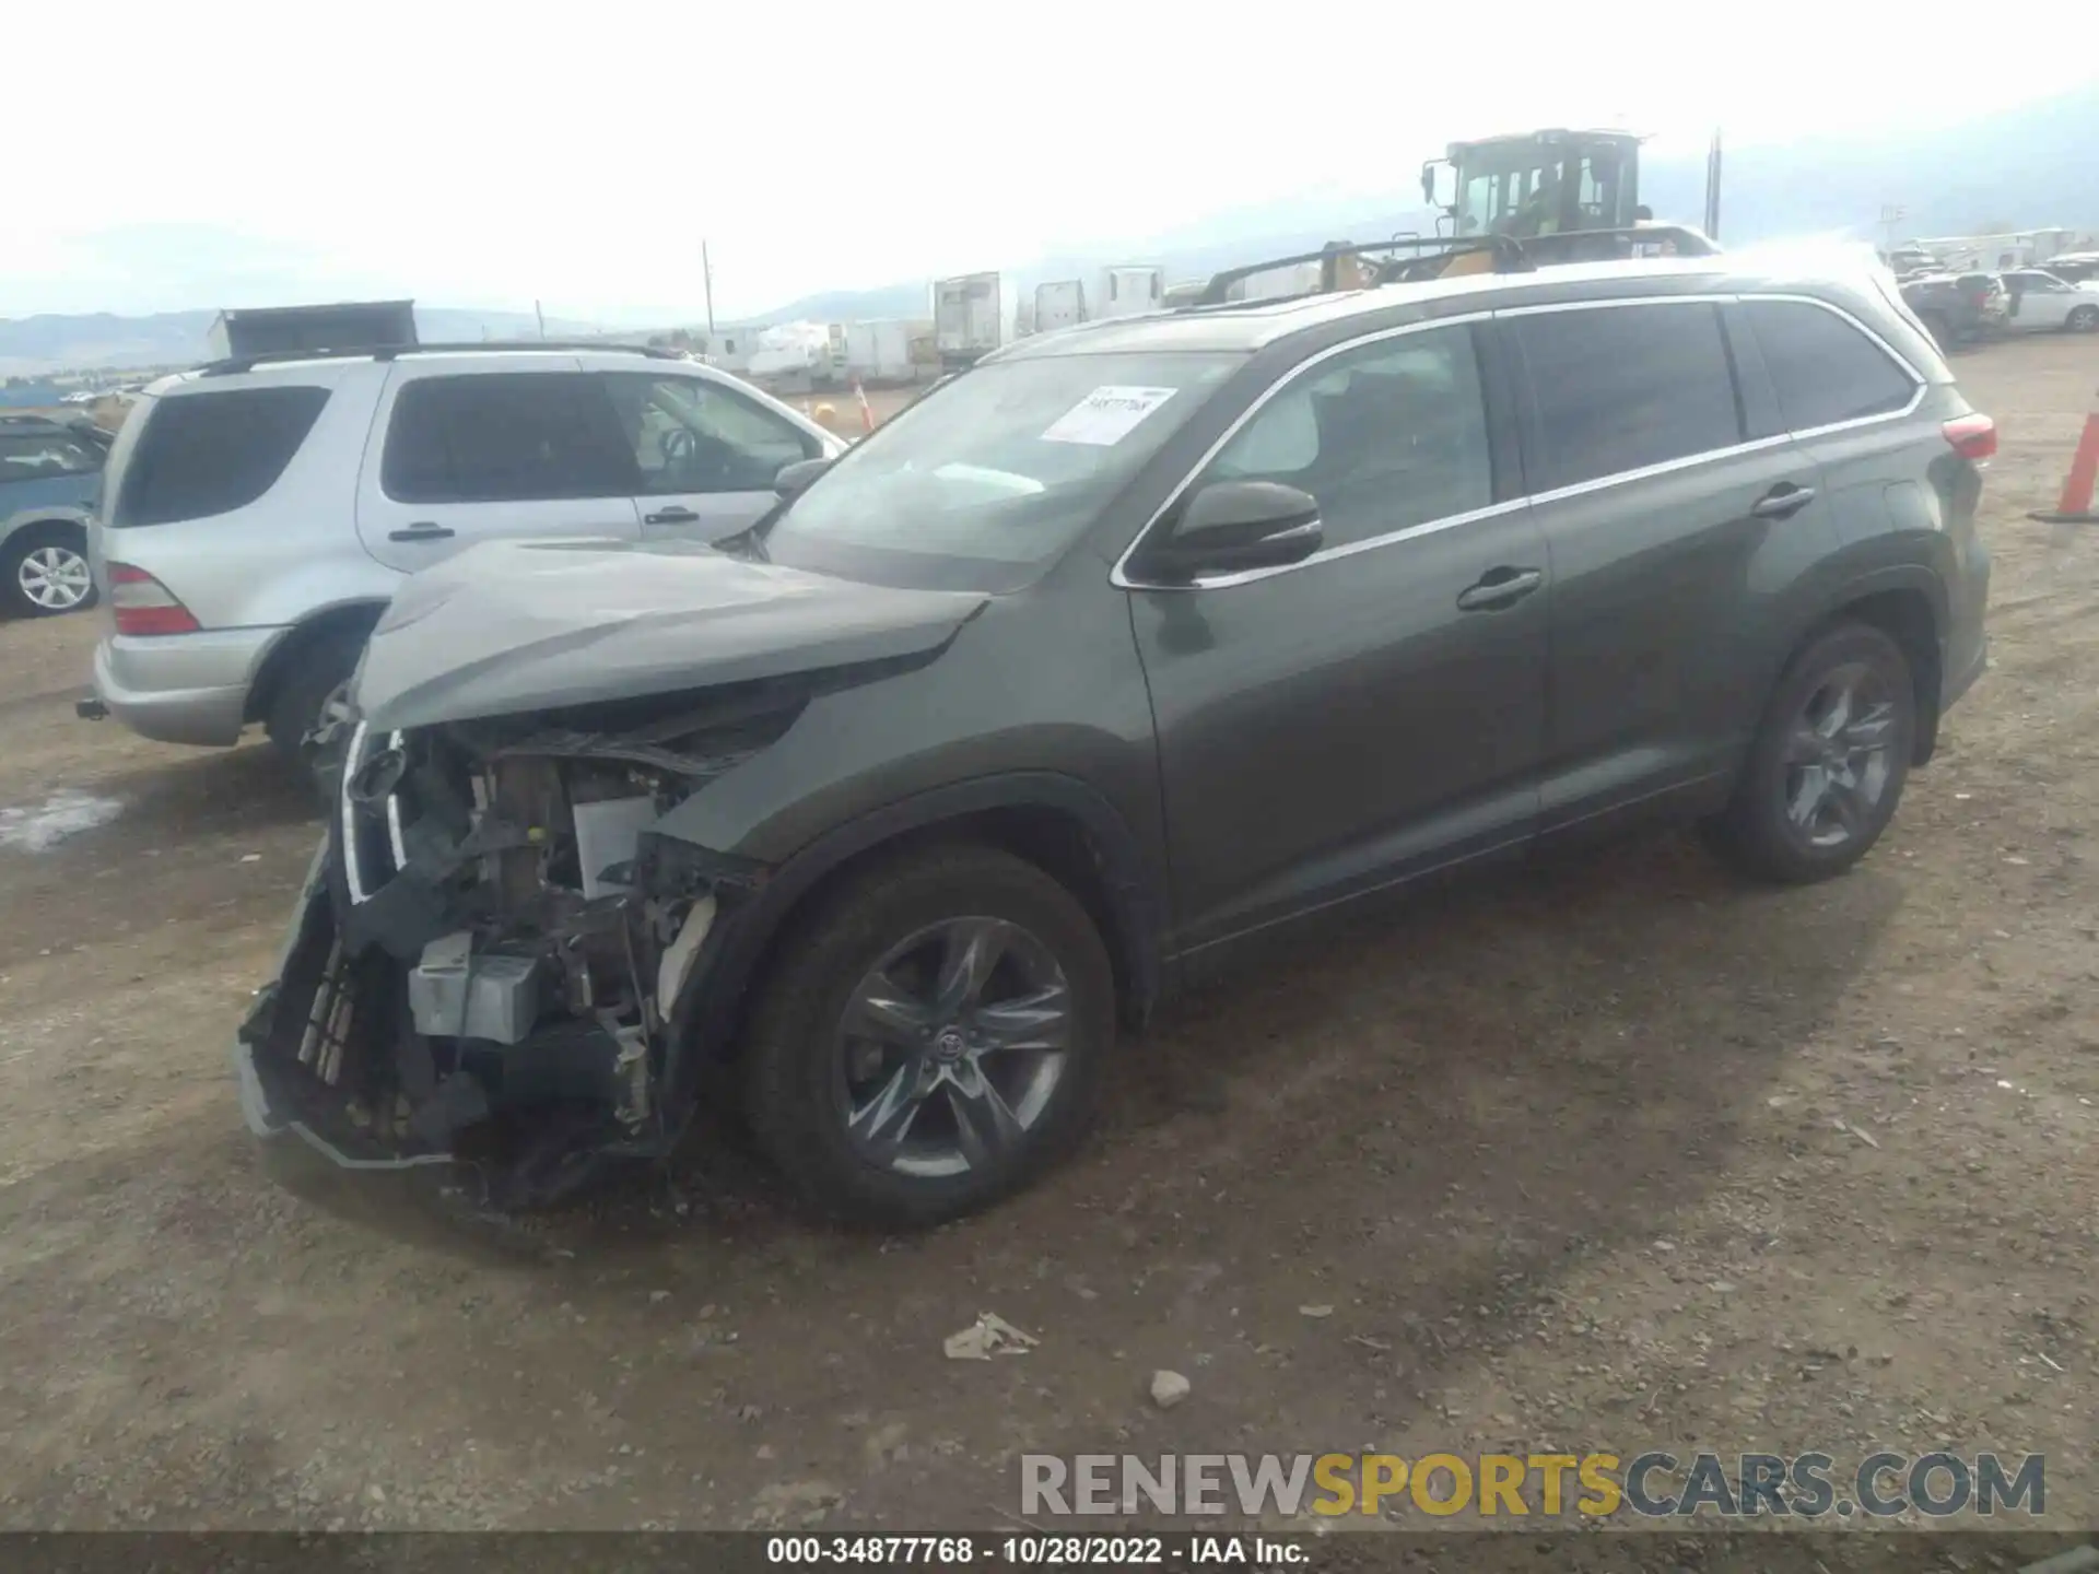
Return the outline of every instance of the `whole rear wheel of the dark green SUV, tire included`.
<path id="1" fill-rule="evenodd" d="M 1786 665 L 1706 842 L 1759 879 L 1839 875 L 1895 816 L 1914 743 L 1916 684 L 1902 646 L 1870 623 L 1839 623 Z"/>

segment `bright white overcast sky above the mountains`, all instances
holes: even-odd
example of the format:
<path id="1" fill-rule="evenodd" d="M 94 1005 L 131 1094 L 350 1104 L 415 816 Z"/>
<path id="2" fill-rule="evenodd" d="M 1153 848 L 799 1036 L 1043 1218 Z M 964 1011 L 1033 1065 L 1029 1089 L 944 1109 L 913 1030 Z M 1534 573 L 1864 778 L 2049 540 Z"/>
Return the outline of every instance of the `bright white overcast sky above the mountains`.
<path id="1" fill-rule="evenodd" d="M 0 317 L 384 294 L 697 319 L 701 237 L 733 317 L 1314 187 L 1406 201 L 1453 136 L 1623 124 L 1696 153 L 1715 124 L 1818 141 L 2099 78 L 2089 0 L 1984 38 L 1879 0 L 0 13 Z"/>

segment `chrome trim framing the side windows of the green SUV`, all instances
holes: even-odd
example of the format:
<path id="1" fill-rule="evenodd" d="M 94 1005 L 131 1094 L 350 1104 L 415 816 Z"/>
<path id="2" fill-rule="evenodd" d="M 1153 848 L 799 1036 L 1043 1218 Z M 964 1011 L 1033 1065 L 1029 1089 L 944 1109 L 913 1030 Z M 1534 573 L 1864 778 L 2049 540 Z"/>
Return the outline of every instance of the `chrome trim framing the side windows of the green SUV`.
<path id="1" fill-rule="evenodd" d="M 1780 302 L 1795 302 L 1795 304 L 1805 304 L 1805 306 L 1818 306 L 1818 309 L 1822 309 L 1826 313 L 1832 313 L 1835 317 L 1843 319 L 1851 327 L 1856 327 L 1860 334 L 1864 334 L 1868 340 L 1872 340 L 1872 344 L 1877 344 L 1881 348 L 1881 353 L 1887 355 L 1889 361 L 1893 361 L 1895 367 L 1904 376 L 1910 378 L 1910 382 L 1914 384 L 1914 392 L 1910 395 L 1910 403 L 1906 403 L 1902 409 L 1891 409 L 1891 411 L 1887 411 L 1883 416 L 1858 416 L 1853 420 L 1830 422 L 1826 426 L 1805 426 L 1801 430 L 1774 432 L 1772 437 L 1757 437 L 1757 439 L 1751 439 L 1746 443 L 1732 443 L 1732 445 L 1727 445 L 1723 449 L 1704 449 L 1700 453 L 1688 453 L 1688 455 L 1683 455 L 1679 460 L 1662 460 L 1660 464 L 1648 464 L 1648 466 L 1641 466 L 1637 470 L 1616 470 L 1616 472 L 1612 472 L 1608 476 L 1595 476 L 1593 481 L 1576 481 L 1576 483 L 1566 485 L 1566 487 L 1553 487 L 1551 491 L 1534 491 L 1534 493 L 1528 493 L 1524 497 L 1509 497 L 1507 502 L 1490 504 L 1488 508 L 1473 508 L 1473 510 L 1469 510 L 1465 514 L 1448 514 L 1444 518 L 1423 520 L 1421 525 L 1406 525 L 1404 529 L 1387 531 L 1383 535 L 1371 535 L 1371 537 L 1364 537 L 1360 541 L 1345 541 L 1341 546 L 1331 546 L 1331 548 L 1314 552 L 1308 558 L 1301 558 L 1297 562 L 1282 562 L 1282 565 L 1276 565 L 1276 567 L 1270 567 L 1270 569 L 1243 569 L 1238 573 L 1209 575 L 1209 577 L 1203 577 L 1203 579 L 1194 579 L 1194 581 L 1190 581 L 1186 586 L 1154 586 L 1154 583 L 1146 583 L 1142 579 L 1131 579 L 1129 577 L 1129 560 L 1138 554 L 1138 548 L 1144 546 L 1144 537 L 1148 537 L 1159 527 L 1159 520 L 1165 518 L 1167 512 L 1171 512 L 1171 508 L 1182 499 L 1182 495 L 1188 491 L 1188 487 L 1194 485 L 1196 476 L 1201 476 L 1203 470 L 1209 468 L 1209 462 L 1215 460 L 1217 453 L 1224 451 L 1226 443 L 1230 443 L 1234 437 L 1238 437 L 1238 432 L 1255 416 L 1259 416 L 1261 409 L 1266 409 L 1266 405 L 1268 405 L 1270 399 L 1274 399 L 1278 392 L 1282 392 L 1285 388 L 1289 388 L 1306 371 L 1312 371 L 1314 367 L 1322 365 L 1324 361 L 1331 361 L 1337 355 L 1348 355 L 1350 350 L 1362 348 L 1364 344 L 1379 344 L 1383 340 L 1402 338 L 1406 334 L 1421 334 L 1421 332 L 1427 332 L 1432 327 L 1457 327 L 1461 323 L 1482 323 L 1482 321 L 1492 321 L 1492 319 L 1499 319 L 1499 317 L 1539 317 L 1539 315 L 1545 315 L 1545 313 L 1606 311 L 1606 309 L 1612 309 L 1612 306 L 1673 306 L 1673 304 L 1727 306 L 1727 304 L 1748 304 L 1748 302 L 1757 302 L 1757 300 L 1780 300 Z M 1473 311 L 1473 313 L 1463 313 L 1463 315 L 1457 315 L 1457 317 L 1429 317 L 1429 319 L 1423 319 L 1419 323 L 1402 323 L 1400 327 L 1381 327 L 1375 334 L 1362 334 L 1358 338 L 1343 340 L 1339 344 L 1329 344 L 1318 355 L 1312 355 L 1306 361 L 1299 361 L 1295 367 L 1289 369 L 1287 376 L 1276 378 L 1276 382 L 1272 382 L 1261 392 L 1259 399 L 1255 399 L 1251 405 L 1247 405 L 1247 409 L 1243 409 L 1238 413 L 1238 418 L 1224 430 L 1224 434 L 1215 443 L 1211 443 L 1209 449 L 1205 449 L 1203 458 L 1194 462 L 1194 466 L 1188 470 L 1188 474 L 1184 474 L 1173 485 L 1173 491 L 1169 491 L 1167 497 L 1165 497 L 1165 502 L 1159 504 L 1159 508 L 1152 510 L 1152 516 L 1148 520 L 1144 520 L 1144 527 L 1131 537 L 1129 546 L 1123 548 L 1123 554 L 1115 560 L 1115 567 L 1108 571 L 1108 583 L 1115 586 L 1117 590 L 1150 590 L 1150 592 L 1228 590 L 1232 586 L 1251 586 L 1251 583 L 1255 583 L 1259 579 L 1274 579 L 1280 573 L 1297 573 L 1299 569 L 1310 569 L 1310 567 L 1320 565 L 1320 562 L 1333 562 L 1337 558 L 1356 556 L 1358 552 L 1371 552 L 1375 548 L 1396 546 L 1400 541 L 1411 541 L 1417 535 L 1434 535 L 1438 531 L 1448 531 L 1448 529 L 1455 529 L 1459 525 L 1471 525 L 1473 520 L 1494 518 L 1499 514 L 1511 514 L 1511 512 L 1515 512 L 1520 508 L 1532 508 L 1536 504 L 1553 504 L 1553 502 L 1560 502 L 1564 497 L 1581 497 L 1581 495 L 1587 495 L 1587 493 L 1593 493 L 1593 491 L 1608 491 L 1610 487 L 1620 487 L 1620 485 L 1627 485 L 1631 481 L 1650 481 L 1654 476 L 1673 474 L 1677 470 L 1692 470 L 1696 466 L 1717 464 L 1721 460 L 1734 460 L 1734 458 L 1744 455 L 1744 453 L 1759 453 L 1763 449 L 1782 447 L 1782 445 L 1797 443 L 1797 441 L 1803 441 L 1803 439 L 1830 437 L 1835 432 L 1860 430 L 1860 428 L 1866 428 L 1866 426 L 1879 426 L 1883 422 L 1908 420 L 1910 416 L 1916 413 L 1916 407 L 1925 401 L 1925 395 L 1929 390 L 1931 390 L 1931 382 L 1914 365 L 1910 365 L 1908 357 L 1902 355 L 1902 350 L 1897 350 L 1879 332 L 1874 332 L 1870 323 L 1860 321 L 1853 313 L 1845 311 L 1843 306 L 1839 306 L 1839 304 L 1835 304 L 1830 300 L 1822 300 L 1820 296 L 1793 294 L 1793 292 L 1746 290 L 1746 292 L 1727 292 L 1727 294 L 1612 296 L 1610 300 L 1553 300 L 1553 302 L 1541 302 L 1541 304 L 1534 304 L 1534 306 L 1501 306 L 1497 311 Z"/>

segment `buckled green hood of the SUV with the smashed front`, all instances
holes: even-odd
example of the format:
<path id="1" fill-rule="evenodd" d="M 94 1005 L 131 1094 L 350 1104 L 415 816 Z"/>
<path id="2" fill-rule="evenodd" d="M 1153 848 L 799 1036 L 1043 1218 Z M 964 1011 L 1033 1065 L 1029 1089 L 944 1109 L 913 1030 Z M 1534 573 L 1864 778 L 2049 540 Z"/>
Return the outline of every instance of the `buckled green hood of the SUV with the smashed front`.
<path id="1" fill-rule="evenodd" d="M 414 728 L 921 655 L 987 600 L 699 544 L 483 541 L 401 586 L 353 703 Z"/>

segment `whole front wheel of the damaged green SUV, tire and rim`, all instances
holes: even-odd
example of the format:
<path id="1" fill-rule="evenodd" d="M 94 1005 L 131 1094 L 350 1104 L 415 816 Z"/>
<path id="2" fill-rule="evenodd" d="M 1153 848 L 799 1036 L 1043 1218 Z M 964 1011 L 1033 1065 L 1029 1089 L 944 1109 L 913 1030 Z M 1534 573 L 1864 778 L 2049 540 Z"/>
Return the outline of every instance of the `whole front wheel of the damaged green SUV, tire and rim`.
<path id="1" fill-rule="evenodd" d="M 1115 1043 L 1085 907 L 1022 858 L 882 860 L 783 936 L 745 1043 L 745 1114 L 821 1211 L 924 1226 L 1068 1152 Z"/>

